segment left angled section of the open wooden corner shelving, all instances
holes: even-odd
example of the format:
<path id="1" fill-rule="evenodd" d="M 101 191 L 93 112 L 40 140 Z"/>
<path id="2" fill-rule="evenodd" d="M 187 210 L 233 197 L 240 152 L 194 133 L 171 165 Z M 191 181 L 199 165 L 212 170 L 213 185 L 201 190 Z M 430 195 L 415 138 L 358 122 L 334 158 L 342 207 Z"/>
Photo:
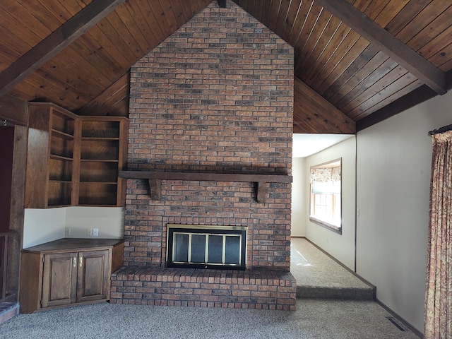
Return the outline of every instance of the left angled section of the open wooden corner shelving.
<path id="1" fill-rule="evenodd" d="M 28 103 L 25 208 L 70 206 L 77 116 L 57 105 Z"/>

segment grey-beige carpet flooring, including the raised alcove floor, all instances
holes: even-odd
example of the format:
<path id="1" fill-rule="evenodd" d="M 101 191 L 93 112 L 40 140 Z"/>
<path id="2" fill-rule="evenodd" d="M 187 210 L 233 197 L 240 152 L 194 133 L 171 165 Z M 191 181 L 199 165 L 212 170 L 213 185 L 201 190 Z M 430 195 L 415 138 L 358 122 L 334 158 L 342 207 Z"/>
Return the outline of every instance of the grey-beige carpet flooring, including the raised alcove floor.
<path id="1" fill-rule="evenodd" d="M 292 241 L 294 260 L 291 271 L 299 285 L 304 288 L 318 285 L 320 289 L 337 287 L 339 290 L 369 287 L 361 280 L 357 281 L 354 275 L 315 246 L 304 242 L 306 242 L 304 239 Z M 321 263 L 322 259 L 325 262 Z M 323 278 L 319 273 L 321 267 L 323 272 L 330 270 Z M 331 270 L 335 272 L 334 277 Z M 292 312 L 138 306 L 104 302 L 34 314 L 19 314 L 0 326 L 0 339 L 25 338 L 419 339 L 420 337 L 374 301 L 356 298 L 327 299 L 323 295 L 319 298 L 310 296 L 297 299 L 297 311 Z"/>

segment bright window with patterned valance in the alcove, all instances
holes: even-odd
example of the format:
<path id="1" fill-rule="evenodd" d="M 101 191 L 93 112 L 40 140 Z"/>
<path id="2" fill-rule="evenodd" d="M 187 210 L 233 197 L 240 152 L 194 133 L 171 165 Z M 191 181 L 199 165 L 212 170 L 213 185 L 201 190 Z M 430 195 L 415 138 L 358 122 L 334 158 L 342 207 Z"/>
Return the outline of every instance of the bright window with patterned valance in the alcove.
<path id="1" fill-rule="evenodd" d="M 341 233 L 342 160 L 311 167 L 309 220 Z"/>

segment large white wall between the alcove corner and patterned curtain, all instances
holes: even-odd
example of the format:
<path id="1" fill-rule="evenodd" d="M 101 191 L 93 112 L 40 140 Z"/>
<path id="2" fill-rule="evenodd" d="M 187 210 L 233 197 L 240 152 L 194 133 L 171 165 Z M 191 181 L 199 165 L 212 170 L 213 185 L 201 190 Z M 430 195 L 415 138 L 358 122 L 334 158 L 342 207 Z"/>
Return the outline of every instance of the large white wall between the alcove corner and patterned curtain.
<path id="1" fill-rule="evenodd" d="M 357 273 L 423 330 L 432 140 L 452 124 L 452 93 L 357 133 Z"/>

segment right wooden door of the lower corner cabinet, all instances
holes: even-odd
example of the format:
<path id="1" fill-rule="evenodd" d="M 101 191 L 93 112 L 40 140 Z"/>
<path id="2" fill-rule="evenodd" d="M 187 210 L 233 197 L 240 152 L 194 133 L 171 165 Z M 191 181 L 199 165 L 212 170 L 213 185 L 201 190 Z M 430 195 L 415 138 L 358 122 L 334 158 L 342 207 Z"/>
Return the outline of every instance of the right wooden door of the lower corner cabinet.
<path id="1" fill-rule="evenodd" d="M 78 255 L 77 302 L 109 299 L 109 251 L 83 251 Z"/>

